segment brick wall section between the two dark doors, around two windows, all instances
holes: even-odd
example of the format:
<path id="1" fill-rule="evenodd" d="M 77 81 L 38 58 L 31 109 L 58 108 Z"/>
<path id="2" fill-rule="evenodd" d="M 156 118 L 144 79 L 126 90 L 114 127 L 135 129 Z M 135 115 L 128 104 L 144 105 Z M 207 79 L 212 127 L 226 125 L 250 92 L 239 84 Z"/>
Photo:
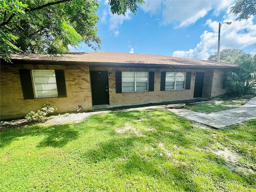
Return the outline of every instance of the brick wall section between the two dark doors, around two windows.
<path id="1" fill-rule="evenodd" d="M 142 69 L 142 68 L 104 68 L 104 67 L 92 67 L 90 70 L 102 70 L 108 71 L 112 76 L 108 76 L 109 82 L 109 100 L 110 105 L 120 104 L 136 104 L 146 102 L 161 102 L 161 101 L 172 101 L 172 100 L 185 100 L 193 98 L 194 96 L 194 81 L 195 76 L 191 76 L 190 90 L 166 90 L 160 91 L 160 77 L 161 71 L 166 72 L 195 72 L 196 70 L 186 69 Z M 115 71 L 126 71 L 126 72 L 155 72 L 154 78 L 154 92 L 124 92 L 116 93 L 116 77 Z M 198 71 L 198 70 L 197 70 Z"/>

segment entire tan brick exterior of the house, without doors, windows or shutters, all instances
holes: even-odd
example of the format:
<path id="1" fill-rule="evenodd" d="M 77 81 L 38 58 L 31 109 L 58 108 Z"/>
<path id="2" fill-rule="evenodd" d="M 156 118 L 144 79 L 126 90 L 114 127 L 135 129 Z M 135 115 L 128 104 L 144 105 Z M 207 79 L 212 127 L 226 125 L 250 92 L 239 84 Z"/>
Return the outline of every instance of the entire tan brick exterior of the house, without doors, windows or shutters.
<path id="1" fill-rule="evenodd" d="M 23 99 L 19 69 L 30 70 L 64 70 L 67 97 L 64 98 L 34 98 Z M 1 119 L 24 117 L 31 110 L 37 111 L 43 104 L 50 103 L 58 108 L 57 112 L 76 111 L 78 105 L 83 110 L 92 110 L 92 94 L 90 84 L 90 70 L 108 71 L 109 101 L 110 105 L 136 104 L 146 102 L 162 102 L 172 100 L 185 100 L 194 96 L 194 81 L 196 72 L 205 72 L 203 97 L 211 98 L 225 94 L 222 90 L 222 70 L 191 70 L 191 69 L 156 69 L 156 68 L 116 68 L 116 67 L 90 67 L 86 64 L 1 64 Z M 154 92 L 124 92 L 116 93 L 115 72 L 149 72 L 154 71 Z M 160 91 L 161 71 L 166 72 L 192 72 L 190 90 Z M 34 90 L 34 88 L 33 88 Z"/>

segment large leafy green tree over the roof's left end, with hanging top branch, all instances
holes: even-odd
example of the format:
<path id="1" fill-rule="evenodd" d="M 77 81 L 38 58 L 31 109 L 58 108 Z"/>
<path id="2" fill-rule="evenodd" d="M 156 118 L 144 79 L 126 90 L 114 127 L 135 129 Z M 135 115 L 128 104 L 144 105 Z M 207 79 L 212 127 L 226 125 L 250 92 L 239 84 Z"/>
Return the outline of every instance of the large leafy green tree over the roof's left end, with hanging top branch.
<path id="1" fill-rule="evenodd" d="M 113 14 L 135 14 L 143 0 L 109 0 Z M 11 53 L 68 52 L 85 42 L 100 49 L 97 0 L 0 0 L 0 56 Z"/>

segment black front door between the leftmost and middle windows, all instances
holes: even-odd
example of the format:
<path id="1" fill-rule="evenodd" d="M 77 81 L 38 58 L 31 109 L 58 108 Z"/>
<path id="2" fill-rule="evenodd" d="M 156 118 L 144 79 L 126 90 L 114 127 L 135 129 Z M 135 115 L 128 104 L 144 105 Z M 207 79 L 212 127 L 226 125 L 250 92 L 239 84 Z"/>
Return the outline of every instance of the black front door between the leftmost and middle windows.
<path id="1" fill-rule="evenodd" d="M 91 71 L 92 105 L 109 104 L 108 72 Z"/>

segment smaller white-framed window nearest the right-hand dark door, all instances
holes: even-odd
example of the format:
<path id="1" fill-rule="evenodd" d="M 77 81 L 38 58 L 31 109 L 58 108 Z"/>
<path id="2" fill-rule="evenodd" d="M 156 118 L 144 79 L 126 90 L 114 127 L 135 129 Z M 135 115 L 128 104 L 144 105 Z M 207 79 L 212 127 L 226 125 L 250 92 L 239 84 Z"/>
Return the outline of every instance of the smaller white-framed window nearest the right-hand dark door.
<path id="1" fill-rule="evenodd" d="M 186 73 L 166 72 L 165 89 L 184 89 Z"/>

